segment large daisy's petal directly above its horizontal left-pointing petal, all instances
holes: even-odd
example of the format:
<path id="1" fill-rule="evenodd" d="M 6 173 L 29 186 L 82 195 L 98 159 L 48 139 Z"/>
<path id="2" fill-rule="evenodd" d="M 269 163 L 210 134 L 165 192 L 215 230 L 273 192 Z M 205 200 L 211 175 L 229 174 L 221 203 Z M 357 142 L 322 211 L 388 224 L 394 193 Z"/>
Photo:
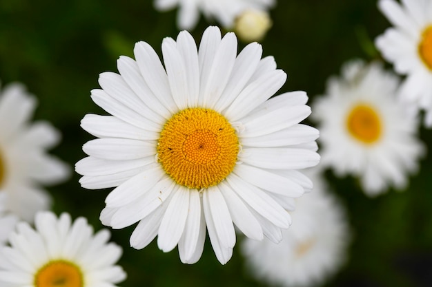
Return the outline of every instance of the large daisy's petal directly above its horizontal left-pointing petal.
<path id="1" fill-rule="evenodd" d="M 98 138 L 129 138 L 132 140 L 159 139 L 159 133 L 157 131 L 141 129 L 115 116 L 86 114 L 81 120 L 81 127 Z"/>

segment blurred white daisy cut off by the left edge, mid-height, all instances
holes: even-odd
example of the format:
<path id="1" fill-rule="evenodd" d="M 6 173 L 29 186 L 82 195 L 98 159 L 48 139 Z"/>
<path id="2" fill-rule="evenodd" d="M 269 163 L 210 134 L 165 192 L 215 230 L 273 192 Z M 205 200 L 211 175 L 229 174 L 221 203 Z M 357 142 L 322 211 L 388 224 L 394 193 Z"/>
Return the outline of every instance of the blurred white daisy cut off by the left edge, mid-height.
<path id="1" fill-rule="evenodd" d="M 0 193 L 8 195 L 6 209 L 28 221 L 50 204 L 41 185 L 70 174 L 66 164 L 46 153 L 59 142 L 59 132 L 43 120 L 29 123 L 36 104 L 18 83 L 0 92 Z"/>

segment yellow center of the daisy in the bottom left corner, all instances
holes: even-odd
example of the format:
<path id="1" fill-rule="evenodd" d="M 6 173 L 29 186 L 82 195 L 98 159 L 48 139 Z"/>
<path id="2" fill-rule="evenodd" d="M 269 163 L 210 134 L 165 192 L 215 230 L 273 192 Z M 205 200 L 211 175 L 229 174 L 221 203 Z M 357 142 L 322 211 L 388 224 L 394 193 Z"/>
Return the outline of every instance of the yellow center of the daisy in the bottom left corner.
<path id="1" fill-rule="evenodd" d="M 44 265 L 35 276 L 35 287 L 83 287 L 83 275 L 75 264 L 55 260 Z"/>

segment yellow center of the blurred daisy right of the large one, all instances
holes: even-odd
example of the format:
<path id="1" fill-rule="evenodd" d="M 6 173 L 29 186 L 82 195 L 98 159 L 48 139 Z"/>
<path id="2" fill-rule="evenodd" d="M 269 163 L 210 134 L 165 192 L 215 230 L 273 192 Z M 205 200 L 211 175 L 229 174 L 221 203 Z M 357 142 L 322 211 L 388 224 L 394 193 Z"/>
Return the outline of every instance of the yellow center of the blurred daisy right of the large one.
<path id="1" fill-rule="evenodd" d="M 354 138 L 371 144 L 376 142 L 382 134 L 380 116 L 369 105 L 357 105 L 348 114 L 346 127 Z"/>

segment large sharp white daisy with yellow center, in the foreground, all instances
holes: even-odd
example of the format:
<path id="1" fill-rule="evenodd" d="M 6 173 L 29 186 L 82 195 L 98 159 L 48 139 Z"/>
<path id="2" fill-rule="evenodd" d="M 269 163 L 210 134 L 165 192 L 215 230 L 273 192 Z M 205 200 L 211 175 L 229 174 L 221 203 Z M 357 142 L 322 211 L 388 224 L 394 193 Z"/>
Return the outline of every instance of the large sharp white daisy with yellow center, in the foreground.
<path id="1" fill-rule="evenodd" d="M 304 92 L 268 100 L 286 74 L 251 43 L 210 27 L 197 49 L 192 36 L 162 43 L 165 67 L 148 43 L 136 61 L 121 56 L 120 74 L 102 73 L 92 100 L 112 116 L 81 121 L 96 140 L 77 162 L 87 189 L 117 187 L 101 221 L 112 228 L 139 222 L 131 246 L 155 237 L 162 251 L 179 246 L 182 262 L 197 262 L 206 226 L 217 259 L 235 245 L 233 223 L 248 237 L 277 242 L 291 204 L 312 183 L 297 171 L 317 164 L 317 129 L 298 124 L 311 109 Z"/>

